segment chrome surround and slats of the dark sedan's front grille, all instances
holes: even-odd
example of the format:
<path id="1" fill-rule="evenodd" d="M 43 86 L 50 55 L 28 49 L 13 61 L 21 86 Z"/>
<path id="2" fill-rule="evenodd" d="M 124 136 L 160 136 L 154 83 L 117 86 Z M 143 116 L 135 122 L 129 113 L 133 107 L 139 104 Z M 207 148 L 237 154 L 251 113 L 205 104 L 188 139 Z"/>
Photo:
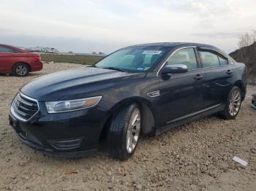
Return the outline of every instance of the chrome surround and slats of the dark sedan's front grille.
<path id="1" fill-rule="evenodd" d="M 17 100 L 20 104 L 23 104 L 23 106 L 20 105 L 20 108 L 23 110 L 26 110 L 27 112 L 21 111 L 18 108 L 19 106 L 17 106 Z M 34 103 L 30 103 L 29 101 L 34 102 Z M 28 106 L 29 108 L 27 108 L 26 106 Z M 37 107 L 37 108 L 35 108 L 35 107 Z M 34 98 L 31 98 L 31 97 L 19 92 L 15 95 L 15 98 L 12 100 L 12 105 L 10 107 L 10 113 L 14 117 L 16 117 L 18 120 L 27 122 L 27 121 L 31 120 L 31 118 L 34 117 L 34 115 L 37 114 L 38 112 L 39 112 L 39 104 L 38 104 L 38 101 Z"/>

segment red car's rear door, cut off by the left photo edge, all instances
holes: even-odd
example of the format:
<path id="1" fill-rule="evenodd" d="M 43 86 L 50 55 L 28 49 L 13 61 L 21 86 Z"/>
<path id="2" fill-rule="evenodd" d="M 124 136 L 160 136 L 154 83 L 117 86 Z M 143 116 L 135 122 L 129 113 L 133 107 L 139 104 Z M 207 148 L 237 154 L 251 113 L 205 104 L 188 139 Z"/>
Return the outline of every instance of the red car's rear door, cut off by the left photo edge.
<path id="1" fill-rule="evenodd" d="M 9 47 L 0 46 L 0 73 L 12 72 L 12 65 L 15 62 L 13 50 Z"/>

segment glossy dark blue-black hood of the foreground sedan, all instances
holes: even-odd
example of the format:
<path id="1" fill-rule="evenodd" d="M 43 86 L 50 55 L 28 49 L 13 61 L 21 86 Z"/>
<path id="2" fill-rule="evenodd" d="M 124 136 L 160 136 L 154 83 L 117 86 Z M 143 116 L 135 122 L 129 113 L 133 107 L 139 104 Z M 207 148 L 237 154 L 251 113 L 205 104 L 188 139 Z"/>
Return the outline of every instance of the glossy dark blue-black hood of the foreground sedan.
<path id="1" fill-rule="evenodd" d="M 37 101 L 59 101 L 97 95 L 116 83 L 145 74 L 83 67 L 48 74 L 32 80 L 20 92 Z"/>

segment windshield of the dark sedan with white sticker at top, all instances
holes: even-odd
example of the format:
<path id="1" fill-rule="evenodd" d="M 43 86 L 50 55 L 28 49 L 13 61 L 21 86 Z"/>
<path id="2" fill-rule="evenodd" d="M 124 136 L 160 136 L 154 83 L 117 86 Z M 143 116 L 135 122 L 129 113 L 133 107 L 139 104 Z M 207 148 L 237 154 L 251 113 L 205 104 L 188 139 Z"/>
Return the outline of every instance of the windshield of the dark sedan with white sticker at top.
<path id="1" fill-rule="evenodd" d="M 99 61 L 95 66 L 104 69 L 124 71 L 147 71 L 164 55 L 167 47 L 138 46 L 127 47 Z"/>

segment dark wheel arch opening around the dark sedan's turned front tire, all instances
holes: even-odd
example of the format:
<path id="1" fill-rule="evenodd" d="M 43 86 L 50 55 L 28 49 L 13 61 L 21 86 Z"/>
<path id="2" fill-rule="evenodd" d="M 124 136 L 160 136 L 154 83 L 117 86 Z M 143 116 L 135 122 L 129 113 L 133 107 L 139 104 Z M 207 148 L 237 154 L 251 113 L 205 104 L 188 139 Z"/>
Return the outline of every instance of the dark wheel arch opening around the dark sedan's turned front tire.
<path id="1" fill-rule="evenodd" d="M 153 109 L 151 108 L 150 102 L 148 100 L 146 100 L 145 98 L 132 97 L 132 98 L 125 98 L 124 100 L 119 101 L 118 103 L 115 104 L 115 106 L 113 106 L 110 109 L 110 115 L 101 130 L 101 133 L 99 136 L 99 142 L 105 141 L 113 114 L 121 107 L 127 106 L 129 104 L 138 104 L 138 106 L 140 107 L 140 112 L 141 112 L 141 117 L 142 117 L 141 133 L 142 134 L 150 134 L 151 136 L 155 135 L 155 133 L 156 133 L 156 118 L 155 118 Z"/>

